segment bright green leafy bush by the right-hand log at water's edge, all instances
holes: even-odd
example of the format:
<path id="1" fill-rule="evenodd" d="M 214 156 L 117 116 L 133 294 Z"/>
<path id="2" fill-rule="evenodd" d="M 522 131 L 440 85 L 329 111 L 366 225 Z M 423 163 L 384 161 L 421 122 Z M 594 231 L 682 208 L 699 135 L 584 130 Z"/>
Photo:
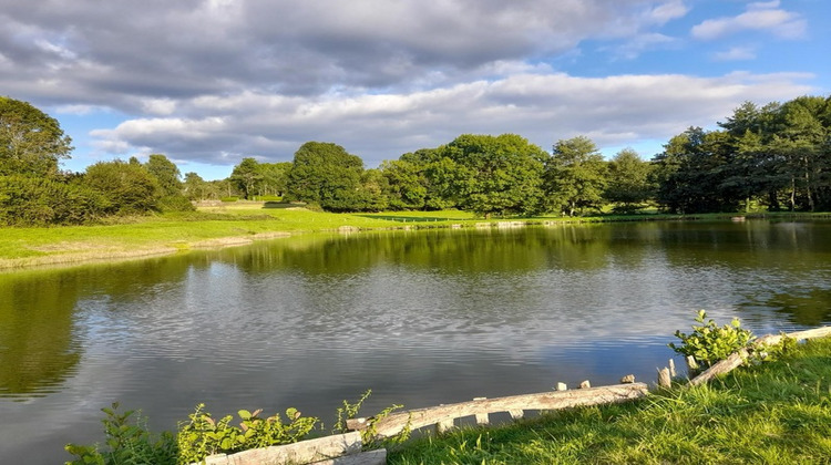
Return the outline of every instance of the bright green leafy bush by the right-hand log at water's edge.
<path id="1" fill-rule="evenodd" d="M 699 310 L 696 322 L 699 324 L 693 326 L 690 334 L 675 332 L 676 338 L 681 340 L 681 345 L 673 342 L 668 345 L 680 354 L 691 355 L 706 366 L 727 359 L 739 349 L 748 348 L 756 339 L 749 330 L 741 328 L 741 323 L 736 318 L 730 324 L 719 328 L 714 320 L 707 320 L 706 311 Z"/>

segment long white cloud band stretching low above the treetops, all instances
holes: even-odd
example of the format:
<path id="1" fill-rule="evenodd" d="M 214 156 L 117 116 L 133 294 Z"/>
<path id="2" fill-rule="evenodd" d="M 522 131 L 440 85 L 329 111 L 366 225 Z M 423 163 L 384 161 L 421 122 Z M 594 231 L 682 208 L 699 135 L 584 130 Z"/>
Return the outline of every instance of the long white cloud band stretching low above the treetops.
<path id="1" fill-rule="evenodd" d="M 737 102 L 766 103 L 806 93 L 809 87 L 798 81 L 807 78 L 517 74 L 383 95 L 307 99 L 246 92 L 187 102 L 195 114 L 214 112 L 211 118 L 134 120 L 95 135 L 113 146 L 161 147 L 217 164 L 228 157 L 217 153 L 217 146 L 277 162 L 290 161 L 304 142 L 337 142 L 377 166 L 464 133 L 517 133 L 543 147 L 578 134 L 591 135 L 599 145 L 665 138 L 690 124 L 708 125 L 729 115 Z"/>

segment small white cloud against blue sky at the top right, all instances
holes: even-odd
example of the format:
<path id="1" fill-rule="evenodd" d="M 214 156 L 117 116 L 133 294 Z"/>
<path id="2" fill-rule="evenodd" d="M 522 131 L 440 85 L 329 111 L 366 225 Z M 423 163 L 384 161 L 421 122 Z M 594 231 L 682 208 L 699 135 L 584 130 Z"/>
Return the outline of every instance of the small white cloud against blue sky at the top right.
<path id="1" fill-rule="evenodd" d="M 750 3 L 747 11 L 731 18 L 716 18 L 693 27 L 693 37 L 715 40 L 747 30 L 767 31 L 782 39 L 804 37 L 808 23 L 798 13 L 778 9 L 779 2 Z"/>

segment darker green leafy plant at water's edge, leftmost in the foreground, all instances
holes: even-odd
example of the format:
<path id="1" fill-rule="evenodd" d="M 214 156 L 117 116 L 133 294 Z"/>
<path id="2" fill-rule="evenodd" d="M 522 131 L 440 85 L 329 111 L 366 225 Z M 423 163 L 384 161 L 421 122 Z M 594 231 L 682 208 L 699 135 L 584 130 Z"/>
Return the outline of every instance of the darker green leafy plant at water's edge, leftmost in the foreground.
<path id="1" fill-rule="evenodd" d="M 176 442 L 172 434 L 162 433 L 160 436 L 151 434 L 146 421 L 137 415 L 132 422 L 135 411 L 119 413 L 119 403 L 110 409 L 101 409 L 106 417 L 104 424 L 106 437 L 103 451 L 98 446 L 68 444 L 64 448 L 78 458 L 68 462 L 72 465 L 123 465 L 123 464 L 154 464 L 166 465 L 176 463 Z"/>

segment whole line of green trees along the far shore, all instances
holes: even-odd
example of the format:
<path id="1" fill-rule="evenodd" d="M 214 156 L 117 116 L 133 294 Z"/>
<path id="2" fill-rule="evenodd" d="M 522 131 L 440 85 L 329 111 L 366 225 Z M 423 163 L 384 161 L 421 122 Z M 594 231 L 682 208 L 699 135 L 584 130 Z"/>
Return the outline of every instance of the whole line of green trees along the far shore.
<path id="1" fill-rule="evenodd" d="M 717 125 L 686 130 L 650 161 L 630 148 L 606 161 L 585 136 L 557 141 L 548 153 L 515 134 L 464 134 L 366 169 L 340 145 L 307 142 L 293 162 L 247 157 L 228 178 L 207 182 L 196 173 L 183 177 L 163 154 L 62 172 L 73 147 L 58 121 L 0 97 L 0 224 L 85 224 L 227 197 L 328 211 L 459 208 L 484 217 L 831 209 L 831 96 L 746 102 Z"/>

